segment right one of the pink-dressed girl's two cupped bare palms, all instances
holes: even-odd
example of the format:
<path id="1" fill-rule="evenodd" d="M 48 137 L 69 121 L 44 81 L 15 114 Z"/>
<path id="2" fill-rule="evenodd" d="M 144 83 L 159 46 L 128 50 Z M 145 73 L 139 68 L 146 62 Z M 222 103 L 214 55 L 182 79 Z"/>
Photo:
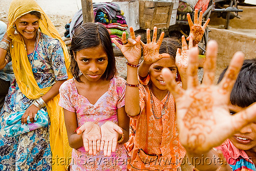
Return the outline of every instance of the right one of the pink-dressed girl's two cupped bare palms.
<path id="1" fill-rule="evenodd" d="M 111 156 L 111 153 L 116 151 L 118 133 L 123 134 L 123 131 L 120 126 L 111 121 L 101 125 L 100 130 L 100 150 L 103 150 L 104 156 Z"/>

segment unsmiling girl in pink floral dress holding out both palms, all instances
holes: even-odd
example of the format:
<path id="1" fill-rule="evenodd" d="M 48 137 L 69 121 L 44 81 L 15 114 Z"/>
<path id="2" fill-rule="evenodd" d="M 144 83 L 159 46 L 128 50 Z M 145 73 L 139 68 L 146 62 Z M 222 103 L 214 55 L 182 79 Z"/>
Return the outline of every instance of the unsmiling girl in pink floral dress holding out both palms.
<path id="1" fill-rule="evenodd" d="M 86 23 L 75 30 L 70 71 L 60 89 L 65 114 L 71 170 L 126 170 L 122 143 L 129 139 L 124 110 L 125 80 L 115 76 L 115 57 L 108 31 Z"/>

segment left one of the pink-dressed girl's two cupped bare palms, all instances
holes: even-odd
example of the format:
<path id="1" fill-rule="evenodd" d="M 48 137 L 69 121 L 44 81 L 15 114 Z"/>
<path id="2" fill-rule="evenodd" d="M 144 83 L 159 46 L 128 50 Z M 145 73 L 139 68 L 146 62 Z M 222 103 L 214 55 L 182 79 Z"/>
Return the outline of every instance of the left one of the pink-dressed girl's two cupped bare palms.
<path id="1" fill-rule="evenodd" d="M 100 150 L 100 127 L 93 122 L 84 123 L 77 131 L 78 135 L 82 134 L 82 141 L 85 151 L 89 155 L 96 155 Z"/>

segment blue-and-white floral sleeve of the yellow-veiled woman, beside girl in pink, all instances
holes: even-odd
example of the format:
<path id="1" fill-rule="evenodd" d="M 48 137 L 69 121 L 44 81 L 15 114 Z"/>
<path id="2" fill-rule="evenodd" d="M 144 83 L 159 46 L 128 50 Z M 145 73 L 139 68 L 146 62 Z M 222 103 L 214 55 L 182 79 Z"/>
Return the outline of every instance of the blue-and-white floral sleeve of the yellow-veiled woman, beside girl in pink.
<path id="1" fill-rule="evenodd" d="M 59 40 L 52 39 L 48 44 L 49 58 L 57 81 L 68 79 L 65 58 Z"/>

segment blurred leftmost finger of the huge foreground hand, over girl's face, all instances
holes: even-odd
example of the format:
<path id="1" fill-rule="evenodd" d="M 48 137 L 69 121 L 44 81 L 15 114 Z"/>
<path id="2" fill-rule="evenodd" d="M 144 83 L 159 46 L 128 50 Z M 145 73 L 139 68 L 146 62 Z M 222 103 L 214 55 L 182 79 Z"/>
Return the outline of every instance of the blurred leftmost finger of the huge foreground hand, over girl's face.
<path id="1" fill-rule="evenodd" d="M 163 68 L 162 69 L 162 76 L 164 81 L 166 82 L 166 86 L 170 93 L 174 96 L 174 98 L 178 98 L 183 94 L 183 90 L 177 86 L 175 81 L 175 75 L 170 72 L 169 69 Z"/>

